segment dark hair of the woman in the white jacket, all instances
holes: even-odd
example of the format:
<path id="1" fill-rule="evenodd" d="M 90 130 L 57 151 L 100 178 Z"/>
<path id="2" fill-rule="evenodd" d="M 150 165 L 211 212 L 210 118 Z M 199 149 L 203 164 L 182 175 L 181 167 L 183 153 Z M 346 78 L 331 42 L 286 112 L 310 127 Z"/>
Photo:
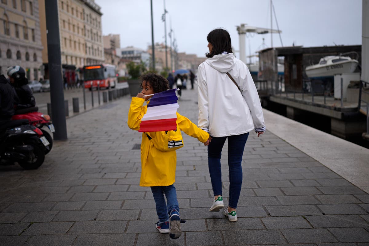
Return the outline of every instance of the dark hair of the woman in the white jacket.
<path id="1" fill-rule="evenodd" d="M 213 45 L 213 50 L 209 53 L 205 53 L 205 56 L 211 58 L 215 55 L 219 55 L 223 51 L 232 53 L 231 36 L 227 30 L 223 28 L 214 29 L 209 32 L 207 41 Z"/>

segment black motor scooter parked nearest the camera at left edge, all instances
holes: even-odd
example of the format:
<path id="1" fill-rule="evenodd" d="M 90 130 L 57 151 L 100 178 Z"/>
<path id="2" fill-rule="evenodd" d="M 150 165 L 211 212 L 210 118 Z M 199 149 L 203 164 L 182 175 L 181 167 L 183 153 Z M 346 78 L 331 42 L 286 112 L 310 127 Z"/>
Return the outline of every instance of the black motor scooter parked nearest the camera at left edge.
<path id="1" fill-rule="evenodd" d="M 44 163 L 48 140 L 28 120 L 11 120 L 0 126 L 0 164 L 37 169 Z"/>

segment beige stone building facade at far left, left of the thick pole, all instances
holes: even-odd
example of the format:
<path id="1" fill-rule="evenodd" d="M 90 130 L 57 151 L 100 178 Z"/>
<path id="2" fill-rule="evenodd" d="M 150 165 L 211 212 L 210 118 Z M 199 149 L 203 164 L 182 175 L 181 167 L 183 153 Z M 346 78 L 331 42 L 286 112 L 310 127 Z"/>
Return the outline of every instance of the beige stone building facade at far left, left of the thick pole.
<path id="1" fill-rule="evenodd" d="M 1 0 L 0 74 L 7 67 L 19 65 L 29 80 L 39 80 L 42 65 L 42 43 L 38 1 Z"/>

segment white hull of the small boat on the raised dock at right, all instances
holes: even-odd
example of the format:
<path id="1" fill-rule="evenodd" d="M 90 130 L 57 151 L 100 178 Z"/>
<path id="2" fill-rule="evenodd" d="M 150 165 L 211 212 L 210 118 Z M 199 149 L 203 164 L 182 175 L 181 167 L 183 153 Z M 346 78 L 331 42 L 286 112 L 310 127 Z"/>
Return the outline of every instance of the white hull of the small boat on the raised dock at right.
<path id="1" fill-rule="evenodd" d="M 328 66 L 313 65 L 306 67 L 305 73 L 309 78 L 331 77 L 335 74 L 353 73 L 358 66 L 357 61 L 331 64 Z"/>

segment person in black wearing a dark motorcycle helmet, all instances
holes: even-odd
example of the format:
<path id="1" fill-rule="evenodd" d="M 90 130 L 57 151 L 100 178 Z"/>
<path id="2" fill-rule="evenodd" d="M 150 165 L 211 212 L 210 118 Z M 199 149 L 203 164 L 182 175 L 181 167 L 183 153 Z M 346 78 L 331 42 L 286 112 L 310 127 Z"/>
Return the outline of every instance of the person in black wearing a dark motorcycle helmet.
<path id="1" fill-rule="evenodd" d="M 16 110 L 34 107 L 36 102 L 31 88 L 28 86 L 25 70 L 20 66 L 8 67 L 7 74 L 18 96 L 18 102 L 15 103 Z"/>

